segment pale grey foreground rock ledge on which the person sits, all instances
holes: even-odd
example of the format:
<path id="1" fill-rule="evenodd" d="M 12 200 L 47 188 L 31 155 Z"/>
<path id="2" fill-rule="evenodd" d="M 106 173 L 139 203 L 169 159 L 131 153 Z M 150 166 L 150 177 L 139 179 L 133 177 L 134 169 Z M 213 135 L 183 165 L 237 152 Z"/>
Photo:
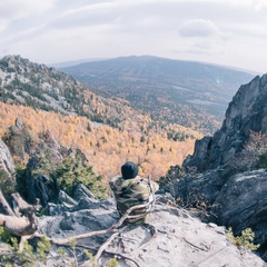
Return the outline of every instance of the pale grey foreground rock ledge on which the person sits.
<path id="1" fill-rule="evenodd" d="M 107 229 L 119 219 L 112 198 L 96 199 L 90 192 L 81 198 L 68 199 L 57 207 L 52 205 L 52 217 L 41 218 L 40 233 L 53 239 L 71 237 L 78 234 Z M 79 194 L 76 194 L 79 196 Z M 164 196 L 160 196 L 161 198 Z M 226 236 L 226 229 L 215 224 L 204 224 L 188 211 L 167 206 L 158 201 L 149 215 L 148 224 L 129 226 L 117 235 L 106 247 L 99 266 L 109 266 L 107 261 L 116 257 L 119 266 L 267 266 L 259 257 L 246 249 L 238 249 Z M 62 198 L 65 199 L 65 198 Z M 79 202 L 83 202 L 80 206 Z M 57 210 L 57 212 L 56 212 Z M 92 238 L 77 239 L 76 257 L 78 266 L 91 266 L 85 257 L 85 248 L 93 255 L 112 234 Z M 80 246 L 79 246 L 80 245 Z M 47 266 L 70 266 L 73 253 L 62 247 L 65 259 L 53 247 Z"/>

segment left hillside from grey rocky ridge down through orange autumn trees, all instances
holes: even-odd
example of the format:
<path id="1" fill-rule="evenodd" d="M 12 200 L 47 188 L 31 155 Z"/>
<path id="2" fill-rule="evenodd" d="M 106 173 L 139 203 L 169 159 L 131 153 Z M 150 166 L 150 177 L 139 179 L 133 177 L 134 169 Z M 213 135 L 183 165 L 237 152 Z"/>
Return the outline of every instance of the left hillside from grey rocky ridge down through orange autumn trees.
<path id="1" fill-rule="evenodd" d="M 0 135 L 16 118 L 38 137 L 51 131 L 66 147 L 79 147 L 97 174 L 117 175 L 125 160 L 141 175 L 164 176 L 192 152 L 201 135 L 166 121 L 155 121 L 129 107 L 91 92 L 89 87 L 53 68 L 10 56 L 0 60 Z M 16 162 L 23 164 L 16 158 Z"/>

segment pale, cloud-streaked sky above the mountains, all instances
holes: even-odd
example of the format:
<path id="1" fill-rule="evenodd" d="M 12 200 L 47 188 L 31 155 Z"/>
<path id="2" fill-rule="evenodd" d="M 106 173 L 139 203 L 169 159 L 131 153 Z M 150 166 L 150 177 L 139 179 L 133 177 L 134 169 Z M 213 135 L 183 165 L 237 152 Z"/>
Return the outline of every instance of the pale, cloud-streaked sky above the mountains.
<path id="1" fill-rule="evenodd" d="M 0 0 L 0 58 L 150 55 L 267 72 L 267 0 Z"/>

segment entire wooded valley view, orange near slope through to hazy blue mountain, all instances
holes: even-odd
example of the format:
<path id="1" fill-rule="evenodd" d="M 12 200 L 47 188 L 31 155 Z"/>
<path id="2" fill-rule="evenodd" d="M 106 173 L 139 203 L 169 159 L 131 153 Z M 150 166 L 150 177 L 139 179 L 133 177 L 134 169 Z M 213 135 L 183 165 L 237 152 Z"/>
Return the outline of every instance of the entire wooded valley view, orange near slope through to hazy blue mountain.
<path id="1" fill-rule="evenodd" d="M 19 118 L 36 137 L 49 130 L 63 146 L 80 148 L 106 181 L 126 160 L 137 162 L 140 175 L 159 179 L 192 154 L 196 139 L 220 127 L 238 79 L 249 77 L 241 72 L 235 78 L 230 71 L 231 80 L 221 78 L 220 86 L 228 85 L 222 90 L 218 77 L 217 87 L 212 75 L 205 79 L 211 67 L 194 66 L 182 62 L 178 68 L 175 61 L 151 57 L 96 61 L 71 67 L 78 81 L 20 56 L 4 57 L 0 135 Z M 186 69 L 195 76 L 188 77 Z M 222 77 L 221 69 L 215 70 Z M 27 164 L 18 157 L 16 162 Z"/>

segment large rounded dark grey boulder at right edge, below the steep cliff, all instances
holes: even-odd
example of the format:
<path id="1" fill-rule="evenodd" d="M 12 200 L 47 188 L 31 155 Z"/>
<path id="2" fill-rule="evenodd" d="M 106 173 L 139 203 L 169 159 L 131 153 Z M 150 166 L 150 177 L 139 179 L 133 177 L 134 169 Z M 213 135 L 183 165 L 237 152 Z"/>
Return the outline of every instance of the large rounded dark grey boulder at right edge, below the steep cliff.
<path id="1" fill-rule="evenodd" d="M 267 240 L 267 170 L 247 171 L 233 176 L 215 199 L 218 221 L 240 234 L 255 229 L 255 241 Z"/>

